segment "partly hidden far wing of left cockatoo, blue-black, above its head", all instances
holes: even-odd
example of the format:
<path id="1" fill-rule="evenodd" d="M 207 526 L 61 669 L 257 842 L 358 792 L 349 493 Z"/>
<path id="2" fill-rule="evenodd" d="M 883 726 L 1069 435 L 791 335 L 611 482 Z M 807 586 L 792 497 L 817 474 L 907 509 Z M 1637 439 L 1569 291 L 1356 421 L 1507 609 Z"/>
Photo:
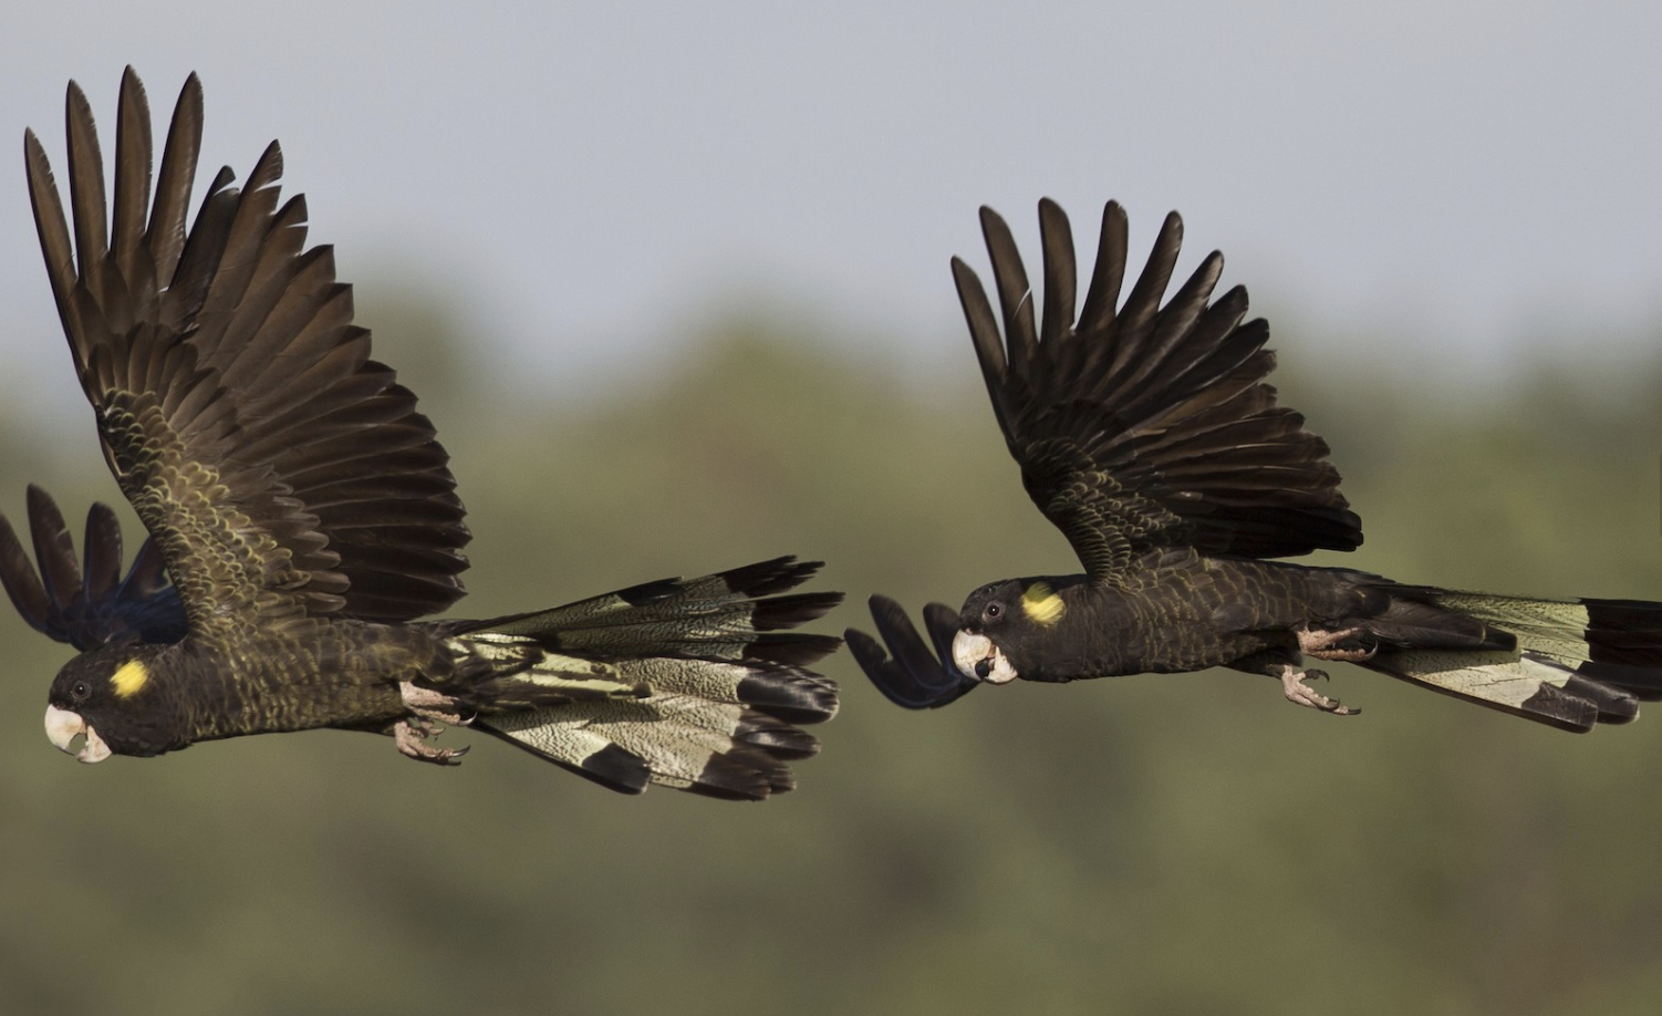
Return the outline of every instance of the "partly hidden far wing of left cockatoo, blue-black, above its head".
<path id="1" fill-rule="evenodd" d="M 168 585 L 156 544 L 145 540 L 121 577 L 121 527 L 105 504 L 86 512 L 85 567 L 57 502 L 30 484 L 28 530 L 35 565 L 0 515 L 0 585 L 35 630 L 86 652 L 128 635 L 166 644 L 184 637 L 184 609 Z"/>

